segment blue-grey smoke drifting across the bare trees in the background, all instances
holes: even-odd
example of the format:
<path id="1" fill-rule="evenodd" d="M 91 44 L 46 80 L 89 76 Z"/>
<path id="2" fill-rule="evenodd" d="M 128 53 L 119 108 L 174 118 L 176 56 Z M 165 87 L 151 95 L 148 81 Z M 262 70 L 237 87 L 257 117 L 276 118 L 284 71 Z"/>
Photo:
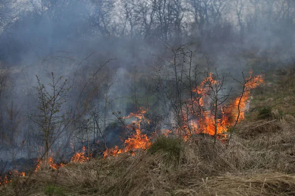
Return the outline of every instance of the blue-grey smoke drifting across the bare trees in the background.
<path id="1" fill-rule="evenodd" d="M 177 48 L 195 43 L 190 45 L 194 66 L 235 76 L 250 69 L 259 74 L 294 61 L 295 3 L 291 0 L 8 2 L 0 2 L 1 73 L 9 73 L 7 78 L 0 75 L 0 158 L 4 161 L 34 158 L 42 146 L 40 131 L 29 120 L 30 114 L 38 112 L 35 75 L 47 85 L 53 72 L 71 87 L 61 113 L 80 116 L 59 138 L 67 153 L 69 136 L 82 141 L 90 134 L 102 140 L 103 129 L 109 130 L 117 118 L 112 112 L 128 115 L 135 111 L 135 101 L 151 113 L 169 107 L 169 102 L 160 105 L 153 90 L 154 71 L 162 69 L 162 60 L 167 63 L 171 55 L 167 44 Z M 20 114 L 16 118 L 22 120 L 14 135 L 8 134 L 7 108 L 12 102 Z M 83 127 L 78 122 L 84 122 Z M 118 143 L 118 132 L 108 133 L 111 146 Z M 14 158 L 8 156 L 11 149 Z"/>

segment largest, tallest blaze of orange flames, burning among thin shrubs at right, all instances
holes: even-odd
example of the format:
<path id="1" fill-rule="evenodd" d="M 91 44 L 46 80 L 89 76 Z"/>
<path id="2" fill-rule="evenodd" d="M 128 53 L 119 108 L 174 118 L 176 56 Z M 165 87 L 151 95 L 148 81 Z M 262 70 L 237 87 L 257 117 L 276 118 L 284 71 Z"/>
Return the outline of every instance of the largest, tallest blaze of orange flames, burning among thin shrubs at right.
<path id="1" fill-rule="evenodd" d="M 226 137 L 225 132 L 230 127 L 244 120 L 245 108 L 250 98 L 250 91 L 264 83 L 263 75 L 252 76 L 252 73 L 250 71 L 249 77 L 244 77 L 244 82 L 239 81 L 242 91 L 228 105 L 220 103 L 226 99 L 221 100 L 222 98 L 216 98 L 221 96 L 217 89 L 222 89 L 223 81 L 218 76 L 214 76 L 213 73 L 209 73 L 201 84 L 196 89 L 193 89 L 196 96 L 194 96 L 195 98 L 192 104 L 188 107 L 192 111 L 199 111 L 198 116 L 200 117 L 197 120 L 191 120 L 189 122 L 192 130 L 195 133 L 216 134 Z M 216 97 L 214 98 L 214 96 Z M 224 98 L 227 97 L 227 95 L 222 96 Z M 213 112 L 214 110 L 215 114 Z M 187 121 L 187 119 L 184 121 Z"/>

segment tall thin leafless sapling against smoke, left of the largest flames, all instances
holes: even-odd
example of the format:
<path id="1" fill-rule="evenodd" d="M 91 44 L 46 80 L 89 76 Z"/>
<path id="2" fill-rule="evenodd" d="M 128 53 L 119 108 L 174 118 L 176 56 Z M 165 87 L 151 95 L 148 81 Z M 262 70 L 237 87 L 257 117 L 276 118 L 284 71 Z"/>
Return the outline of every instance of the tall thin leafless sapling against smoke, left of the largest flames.
<path id="1" fill-rule="evenodd" d="M 154 69 L 156 91 L 159 91 L 159 98 L 165 106 L 169 126 L 177 130 L 180 136 L 192 135 L 189 125 L 192 112 L 191 105 L 188 104 L 188 100 L 192 99 L 190 87 L 193 86 L 193 77 L 190 75 L 193 51 L 189 49 L 192 44 L 180 46 L 171 46 L 167 42 L 164 44 L 170 55 L 166 59 L 158 56 L 164 65 Z"/>

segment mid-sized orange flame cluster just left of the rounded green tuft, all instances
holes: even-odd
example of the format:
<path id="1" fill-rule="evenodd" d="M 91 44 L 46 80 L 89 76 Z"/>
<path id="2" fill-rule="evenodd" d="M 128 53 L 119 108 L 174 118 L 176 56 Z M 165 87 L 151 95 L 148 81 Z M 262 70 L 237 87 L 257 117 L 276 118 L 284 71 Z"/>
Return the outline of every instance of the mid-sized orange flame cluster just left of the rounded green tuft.
<path id="1" fill-rule="evenodd" d="M 128 152 L 131 153 L 131 155 L 135 155 L 136 150 L 147 149 L 151 145 L 147 134 L 143 134 L 140 128 L 141 122 L 145 121 L 149 123 L 149 121 L 146 120 L 144 116 L 147 111 L 145 111 L 143 108 L 140 109 L 141 111 L 138 114 L 130 113 L 130 115 L 127 117 L 123 117 L 123 119 L 137 118 L 137 121 L 133 121 L 131 124 L 126 126 L 129 130 L 135 130 L 135 133 L 125 140 L 123 149 L 119 149 L 117 146 L 106 149 L 104 152 L 104 158 L 107 156 L 118 156 L 118 154 L 123 152 Z"/>

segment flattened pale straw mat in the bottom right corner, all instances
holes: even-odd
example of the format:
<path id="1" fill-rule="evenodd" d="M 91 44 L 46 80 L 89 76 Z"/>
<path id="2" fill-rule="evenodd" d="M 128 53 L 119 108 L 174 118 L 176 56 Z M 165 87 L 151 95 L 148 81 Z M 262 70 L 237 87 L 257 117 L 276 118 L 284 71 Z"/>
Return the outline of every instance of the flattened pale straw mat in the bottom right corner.
<path id="1" fill-rule="evenodd" d="M 196 187 L 179 189 L 177 196 L 294 196 L 295 176 L 282 173 L 225 175 L 202 178 Z"/>

